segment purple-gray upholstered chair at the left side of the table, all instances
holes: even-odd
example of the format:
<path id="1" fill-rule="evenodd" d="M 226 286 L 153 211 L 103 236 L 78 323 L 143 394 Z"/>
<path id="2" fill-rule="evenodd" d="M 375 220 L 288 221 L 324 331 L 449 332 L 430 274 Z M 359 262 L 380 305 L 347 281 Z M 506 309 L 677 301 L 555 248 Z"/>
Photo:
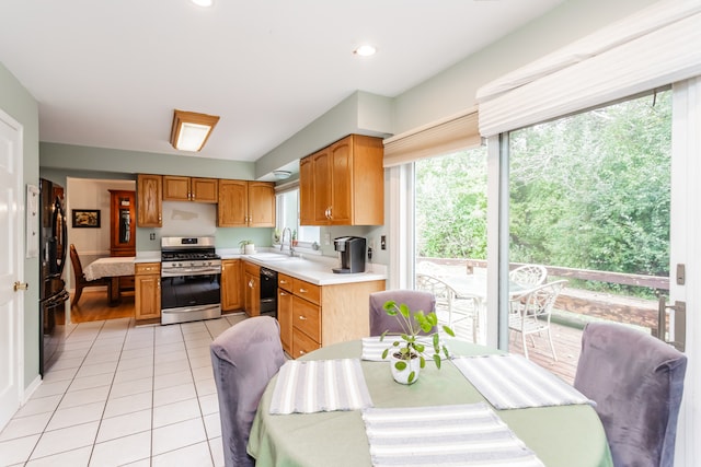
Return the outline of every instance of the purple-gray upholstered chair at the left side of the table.
<path id="1" fill-rule="evenodd" d="M 265 386 L 285 363 L 279 325 L 269 316 L 245 319 L 219 335 L 209 349 L 225 465 L 253 466 L 245 451 L 251 424 Z"/>

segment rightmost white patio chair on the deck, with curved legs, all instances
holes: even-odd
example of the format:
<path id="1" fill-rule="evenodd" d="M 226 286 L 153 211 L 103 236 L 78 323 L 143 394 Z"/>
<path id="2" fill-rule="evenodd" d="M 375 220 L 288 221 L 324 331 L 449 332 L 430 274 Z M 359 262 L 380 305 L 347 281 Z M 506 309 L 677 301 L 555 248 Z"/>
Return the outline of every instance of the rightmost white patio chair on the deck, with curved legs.
<path id="1" fill-rule="evenodd" d="M 558 361 L 555 347 L 552 343 L 552 336 L 550 335 L 550 317 L 555 306 L 555 300 L 558 300 L 558 295 L 565 283 L 567 283 L 566 280 L 545 283 L 531 289 L 514 300 L 514 302 L 519 303 L 519 306 L 514 307 L 512 313 L 509 313 L 508 328 L 521 334 L 524 355 L 527 359 L 528 346 L 526 345 L 526 336 L 531 335 L 531 343 L 536 347 L 532 335 L 544 331 L 548 334 L 552 358 L 555 362 Z"/>

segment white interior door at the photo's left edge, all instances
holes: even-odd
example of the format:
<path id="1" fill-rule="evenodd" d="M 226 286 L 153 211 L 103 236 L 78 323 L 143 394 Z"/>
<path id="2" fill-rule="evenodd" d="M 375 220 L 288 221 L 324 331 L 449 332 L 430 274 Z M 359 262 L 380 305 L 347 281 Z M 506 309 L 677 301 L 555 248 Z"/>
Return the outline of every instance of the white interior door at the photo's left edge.
<path id="1" fill-rule="evenodd" d="M 0 110 L 0 430 L 20 407 L 23 279 L 22 130 Z"/>

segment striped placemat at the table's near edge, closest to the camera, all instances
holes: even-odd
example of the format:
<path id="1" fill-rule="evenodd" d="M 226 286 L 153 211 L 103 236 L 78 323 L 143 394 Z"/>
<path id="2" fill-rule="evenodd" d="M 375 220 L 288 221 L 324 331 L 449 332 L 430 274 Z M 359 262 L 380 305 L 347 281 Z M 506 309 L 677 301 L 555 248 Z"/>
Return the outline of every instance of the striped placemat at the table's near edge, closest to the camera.
<path id="1" fill-rule="evenodd" d="M 543 463 L 484 402 L 363 410 L 375 467 Z"/>

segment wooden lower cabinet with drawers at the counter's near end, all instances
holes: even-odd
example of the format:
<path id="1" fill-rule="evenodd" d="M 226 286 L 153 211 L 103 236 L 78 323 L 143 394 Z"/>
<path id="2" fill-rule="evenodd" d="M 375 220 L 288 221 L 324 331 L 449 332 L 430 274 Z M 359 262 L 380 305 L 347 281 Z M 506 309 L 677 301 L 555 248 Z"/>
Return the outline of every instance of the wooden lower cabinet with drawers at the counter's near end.
<path id="1" fill-rule="evenodd" d="M 332 285 L 287 275 L 277 280 L 283 349 L 295 359 L 322 346 L 367 337 L 369 295 L 384 290 L 383 280 Z"/>

